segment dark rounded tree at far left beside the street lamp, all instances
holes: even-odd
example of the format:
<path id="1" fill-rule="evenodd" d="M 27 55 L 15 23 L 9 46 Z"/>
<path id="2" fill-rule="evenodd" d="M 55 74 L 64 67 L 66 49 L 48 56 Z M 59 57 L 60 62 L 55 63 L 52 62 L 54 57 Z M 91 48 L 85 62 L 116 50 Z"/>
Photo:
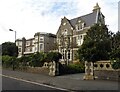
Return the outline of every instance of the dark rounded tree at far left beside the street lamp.
<path id="1" fill-rule="evenodd" d="M 18 47 L 15 43 L 5 42 L 2 44 L 2 55 L 18 56 Z"/>

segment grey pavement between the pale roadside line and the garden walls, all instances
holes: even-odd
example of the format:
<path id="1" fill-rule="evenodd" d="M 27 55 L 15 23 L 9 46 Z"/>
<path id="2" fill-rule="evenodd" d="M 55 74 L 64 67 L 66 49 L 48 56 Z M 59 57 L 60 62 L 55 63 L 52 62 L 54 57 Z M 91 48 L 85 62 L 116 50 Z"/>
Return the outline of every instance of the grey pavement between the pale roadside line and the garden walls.
<path id="1" fill-rule="evenodd" d="M 107 90 L 120 91 L 120 82 L 109 80 L 83 80 L 84 73 L 48 76 L 43 74 L 33 74 L 20 71 L 2 70 L 3 75 L 29 80 L 32 82 L 42 83 L 54 87 L 67 89 L 70 91 L 91 91 L 91 90 Z M 119 90 L 119 91 L 118 91 Z"/>

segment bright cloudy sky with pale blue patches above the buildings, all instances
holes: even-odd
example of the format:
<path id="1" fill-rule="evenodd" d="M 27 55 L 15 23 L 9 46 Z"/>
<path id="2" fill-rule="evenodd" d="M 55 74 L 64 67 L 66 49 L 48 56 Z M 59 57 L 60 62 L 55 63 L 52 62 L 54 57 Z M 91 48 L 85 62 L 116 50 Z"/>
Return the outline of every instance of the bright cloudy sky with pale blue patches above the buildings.
<path id="1" fill-rule="evenodd" d="M 73 19 L 101 7 L 106 25 L 118 31 L 119 0 L 0 0 L 0 44 L 33 38 L 36 32 L 56 34 L 61 18 Z M 12 29 L 14 31 L 9 31 Z"/>

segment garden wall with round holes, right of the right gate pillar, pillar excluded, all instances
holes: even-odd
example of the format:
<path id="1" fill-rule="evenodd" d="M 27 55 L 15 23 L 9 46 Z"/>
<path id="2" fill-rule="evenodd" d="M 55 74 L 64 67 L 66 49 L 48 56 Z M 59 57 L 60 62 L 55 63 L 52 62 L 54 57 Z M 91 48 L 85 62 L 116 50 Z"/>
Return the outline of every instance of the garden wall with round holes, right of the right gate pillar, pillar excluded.
<path id="1" fill-rule="evenodd" d="M 95 79 L 120 80 L 120 69 L 113 69 L 110 61 L 94 63 Z"/>

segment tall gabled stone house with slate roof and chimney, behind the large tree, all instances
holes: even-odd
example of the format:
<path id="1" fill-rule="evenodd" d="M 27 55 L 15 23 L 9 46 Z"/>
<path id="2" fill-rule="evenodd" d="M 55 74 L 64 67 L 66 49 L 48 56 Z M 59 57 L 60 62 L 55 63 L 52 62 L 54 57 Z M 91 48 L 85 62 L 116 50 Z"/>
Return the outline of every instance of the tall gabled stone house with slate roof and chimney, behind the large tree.
<path id="1" fill-rule="evenodd" d="M 104 18 L 97 3 L 92 13 L 70 20 L 66 17 L 61 19 L 56 34 L 58 51 L 62 54 L 61 62 L 68 64 L 75 61 L 76 51 L 82 45 L 88 29 L 95 23 L 105 24 Z"/>

